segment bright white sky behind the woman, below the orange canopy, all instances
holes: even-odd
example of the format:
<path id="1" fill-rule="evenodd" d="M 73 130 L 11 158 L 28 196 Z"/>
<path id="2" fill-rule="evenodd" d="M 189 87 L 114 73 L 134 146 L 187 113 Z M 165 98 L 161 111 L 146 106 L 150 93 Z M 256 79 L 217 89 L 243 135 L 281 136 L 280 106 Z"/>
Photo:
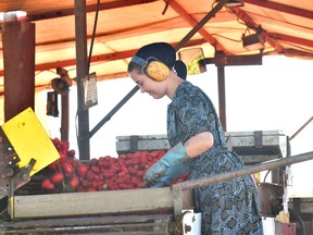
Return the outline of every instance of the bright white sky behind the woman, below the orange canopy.
<path id="1" fill-rule="evenodd" d="M 208 65 L 200 75 L 188 81 L 202 88 L 218 111 L 217 70 Z M 313 116 L 313 61 L 263 57 L 263 65 L 226 66 L 227 132 L 283 131 L 292 136 Z M 92 129 L 133 88 L 130 78 L 104 81 L 97 84 L 98 104 L 89 109 L 89 129 Z M 36 100 L 46 101 L 47 91 Z M 70 144 L 76 144 L 76 86 L 70 89 Z M 118 157 L 117 136 L 165 135 L 168 98 L 154 100 L 137 91 L 90 139 L 90 158 Z M 51 137 L 60 136 L 61 119 L 46 115 L 46 102 L 36 101 L 36 114 Z M 59 106 L 59 111 L 61 106 Z M 313 122 L 291 141 L 291 154 L 313 150 Z M 293 164 L 291 196 L 312 196 L 313 184 L 303 186 L 303 175 L 313 176 L 313 161 Z"/>

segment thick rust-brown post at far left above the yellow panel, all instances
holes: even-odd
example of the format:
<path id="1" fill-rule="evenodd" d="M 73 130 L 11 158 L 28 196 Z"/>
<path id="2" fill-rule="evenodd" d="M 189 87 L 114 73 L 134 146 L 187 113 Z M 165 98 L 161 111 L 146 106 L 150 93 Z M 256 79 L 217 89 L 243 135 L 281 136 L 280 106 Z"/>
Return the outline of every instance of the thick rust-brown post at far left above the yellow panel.
<path id="1" fill-rule="evenodd" d="M 7 122 L 29 107 L 35 109 L 35 24 L 5 22 L 2 45 Z"/>

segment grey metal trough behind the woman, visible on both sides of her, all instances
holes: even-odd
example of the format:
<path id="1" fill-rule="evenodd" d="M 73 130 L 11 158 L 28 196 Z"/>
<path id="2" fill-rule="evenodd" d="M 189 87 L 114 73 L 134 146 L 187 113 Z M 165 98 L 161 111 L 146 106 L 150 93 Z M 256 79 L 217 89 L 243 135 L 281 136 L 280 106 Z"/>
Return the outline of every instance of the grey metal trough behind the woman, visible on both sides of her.
<path id="1" fill-rule="evenodd" d="M 287 137 L 281 131 L 226 132 L 227 146 L 245 163 L 259 163 L 287 154 Z M 171 146 L 166 135 L 117 136 L 118 154 L 135 151 L 166 150 Z"/>

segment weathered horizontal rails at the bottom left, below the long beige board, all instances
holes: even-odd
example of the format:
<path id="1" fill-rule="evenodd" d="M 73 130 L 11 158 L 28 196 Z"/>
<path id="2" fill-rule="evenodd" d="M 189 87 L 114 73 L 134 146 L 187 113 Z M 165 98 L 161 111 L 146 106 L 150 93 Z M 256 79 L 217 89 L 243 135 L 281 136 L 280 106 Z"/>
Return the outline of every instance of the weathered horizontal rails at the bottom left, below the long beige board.
<path id="1" fill-rule="evenodd" d="M 54 218 L 4 222 L 0 224 L 0 234 L 168 234 L 172 214 L 115 215 Z M 118 233 L 117 233 L 118 232 Z"/>

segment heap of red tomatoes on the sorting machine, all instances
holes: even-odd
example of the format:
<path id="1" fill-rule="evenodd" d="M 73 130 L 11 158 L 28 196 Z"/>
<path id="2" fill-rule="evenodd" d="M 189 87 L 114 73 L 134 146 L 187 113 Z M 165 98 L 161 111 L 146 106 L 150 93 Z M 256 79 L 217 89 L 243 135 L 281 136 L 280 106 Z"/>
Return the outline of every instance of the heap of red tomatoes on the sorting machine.
<path id="1" fill-rule="evenodd" d="M 70 143 L 52 139 L 60 159 L 48 168 L 52 174 L 45 178 L 41 187 L 49 191 L 100 191 L 148 187 L 143 182 L 146 171 L 165 154 L 164 150 L 137 151 L 116 157 L 93 158 L 87 163 L 75 158 Z M 183 182 L 184 175 L 177 182 Z M 177 183 L 175 182 L 175 183 Z"/>

